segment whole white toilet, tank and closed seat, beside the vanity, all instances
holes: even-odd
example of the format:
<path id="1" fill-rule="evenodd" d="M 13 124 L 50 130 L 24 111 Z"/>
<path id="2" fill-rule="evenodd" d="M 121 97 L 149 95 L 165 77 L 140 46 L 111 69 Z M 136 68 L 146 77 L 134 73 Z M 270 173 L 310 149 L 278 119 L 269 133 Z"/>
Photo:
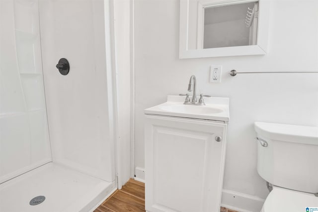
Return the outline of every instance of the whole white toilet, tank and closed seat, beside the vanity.
<path id="1" fill-rule="evenodd" d="M 255 122 L 257 171 L 273 190 L 261 212 L 318 208 L 318 127 Z"/>

